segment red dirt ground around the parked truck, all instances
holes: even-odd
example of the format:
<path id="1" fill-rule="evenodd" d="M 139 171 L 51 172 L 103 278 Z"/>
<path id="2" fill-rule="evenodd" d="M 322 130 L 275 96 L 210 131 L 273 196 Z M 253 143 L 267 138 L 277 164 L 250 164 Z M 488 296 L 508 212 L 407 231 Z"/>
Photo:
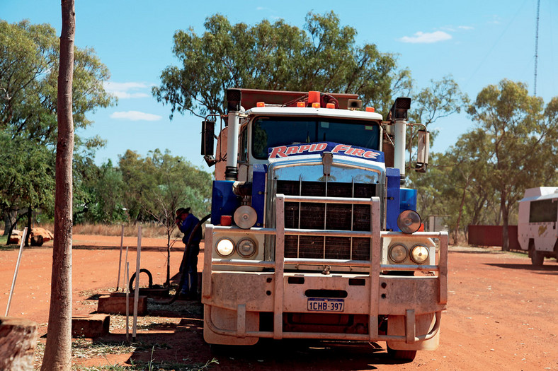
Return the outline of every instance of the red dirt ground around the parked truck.
<path id="1" fill-rule="evenodd" d="M 130 246 L 128 261 L 135 270 L 135 237 L 125 238 Z M 142 240 L 142 268 L 153 273 L 154 283 L 166 275 L 164 240 Z M 80 249 L 79 246 L 86 246 Z M 74 313 L 96 310 L 95 293 L 114 290 L 118 274 L 120 237 L 74 236 Z M 104 247 L 104 249 L 103 249 Z M 147 250 L 147 251 L 146 251 Z M 171 274 L 178 271 L 182 257 L 178 242 L 171 254 Z M 16 266 L 17 249 L 0 251 L 0 310 L 4 314 Z M 450 248 L 449 302 L 443 314 L 440 347 L 418 352 L 413 363 L 394 363 L 385 351 L 369 345 L 267 341 L 261 345 L 215 356 L 219 365 L 211 370 L 558 370 L 558 264 L 546 259 L 534 268 L 524 254 L 496 249 Z M 124 259 L 124 257 L 123 257 Z M 203 253 L 200 254 L 200 264 Z M 41 248 L 25 249 L 11 302 L 11 317 L 24 317 L 40 324 L 46 332 L 50 300 L 52 242 Z M 132 274 L 132 272 L 130 273 Z M 122 286 L 122 277 L 120 278 Z M 142 285 L 145 285 L 142 284 Z M 183 302 L 180 318 L 159 319 L 162 323 L 138 333 L 138 341 L 166 344 L 163 348 L 107 358 L 76 360 L 81 365 L 107 362 L 166 360 L 205 363 L 213 355 L 203 342 L 200 305 Z M 122 332 L 122 331 L 120 331 Z M 109 340 L 123 341 L 123 334 Z M 41 339 L 44 341 L 44 339 Z M 385 344 L 380 343 L 380 346 Z"/>

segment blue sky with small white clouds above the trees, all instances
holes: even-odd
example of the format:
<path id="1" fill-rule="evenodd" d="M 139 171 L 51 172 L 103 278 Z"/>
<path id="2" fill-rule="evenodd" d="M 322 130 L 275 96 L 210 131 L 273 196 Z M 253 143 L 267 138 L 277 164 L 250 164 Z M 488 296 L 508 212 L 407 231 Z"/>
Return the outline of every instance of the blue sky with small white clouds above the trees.
<path id="1" fill-rule="evenodd" d="M 75 44 L 96 50 L 112 76 L 107 89 L 119 97 L 117 106 L 89 114 L 94 124 L 78 134 L 106 139 L 96 154 L 98 164 L 118 161 L 127 149 L 146 155 L 168 148 L 209 170 L 200 156 L 200 119 L 176 114 L 170 121 L 170 107 L 152 98 L 151 87 L 159 85 L 162 69 L 177 64 L 173 33 L 192 27 L 200 35 L 205 18 L 215 13 L 232 23 L 283 18 L 302 28 L 309 11 L 333 10 L 341 25 L 358 31 L 358 44 L 374 43 L 381 52 L 398 54 L 399 66 L 411 69 L 418 88 L 451 74 L 472 99 L 503 78 L 528 83 L 533 93 L 536 7 L 537 0 L 76 0 Z M 545 102 L 558 95 L 557 13 L 557 1 L 540 0 L 537 95 Z M 50 23 L 59 34 L 60 2 L 0 0 L 0 18 Z M 440 135 L 432 149 L 440 152 L 473 124 L 466 114 L 457 114 L 434 126 Z"/>

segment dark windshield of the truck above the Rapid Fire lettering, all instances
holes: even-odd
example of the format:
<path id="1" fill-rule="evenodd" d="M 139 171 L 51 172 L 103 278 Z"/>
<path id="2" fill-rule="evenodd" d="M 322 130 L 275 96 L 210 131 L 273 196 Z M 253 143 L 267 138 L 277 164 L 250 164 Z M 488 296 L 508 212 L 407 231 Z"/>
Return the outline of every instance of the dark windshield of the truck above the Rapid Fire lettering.
<path id="1" fill-rule="evenodd" d="M 268 148 L 329 141 L 380 150 L 377 122 L 324 117 L 260 117 L 252 124 L 252 155 L 268 158 Z"/>

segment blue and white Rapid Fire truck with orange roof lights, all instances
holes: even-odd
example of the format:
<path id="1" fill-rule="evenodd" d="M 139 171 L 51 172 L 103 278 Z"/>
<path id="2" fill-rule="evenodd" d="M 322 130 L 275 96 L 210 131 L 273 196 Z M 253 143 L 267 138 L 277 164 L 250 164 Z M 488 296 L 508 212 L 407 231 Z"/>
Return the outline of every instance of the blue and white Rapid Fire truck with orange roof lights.
<path id="1" fill-rule="evenodd" d="M 226 102 L 202 124 L 201 154 L 216 166 L 205 341 L 385 341 L 401 360 L 437 348 L 448 235 L 422 231 L 416 190 L 403 187 L 407 128 L 419 129 L 414 167 L 428 165 L 411 99 L 385 120 L 354 94 L 234 88 Z"/>

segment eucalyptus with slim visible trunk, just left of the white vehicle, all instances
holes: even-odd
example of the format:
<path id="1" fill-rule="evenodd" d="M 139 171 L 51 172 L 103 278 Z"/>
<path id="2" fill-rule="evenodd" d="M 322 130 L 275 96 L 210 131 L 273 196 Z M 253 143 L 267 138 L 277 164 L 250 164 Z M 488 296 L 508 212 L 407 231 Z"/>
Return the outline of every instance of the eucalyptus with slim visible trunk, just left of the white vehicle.
<path id="1" fill-rule="evenodd" d="M 524 83 L 502 80 L 482 89 L 467 112 L 486 135 L 478 151 L 488 154 L 485 184 L 498 194 L 507 250 L 510 212 L 524 190 L 557 182 L 558 97 L 545 106 Z"/>

